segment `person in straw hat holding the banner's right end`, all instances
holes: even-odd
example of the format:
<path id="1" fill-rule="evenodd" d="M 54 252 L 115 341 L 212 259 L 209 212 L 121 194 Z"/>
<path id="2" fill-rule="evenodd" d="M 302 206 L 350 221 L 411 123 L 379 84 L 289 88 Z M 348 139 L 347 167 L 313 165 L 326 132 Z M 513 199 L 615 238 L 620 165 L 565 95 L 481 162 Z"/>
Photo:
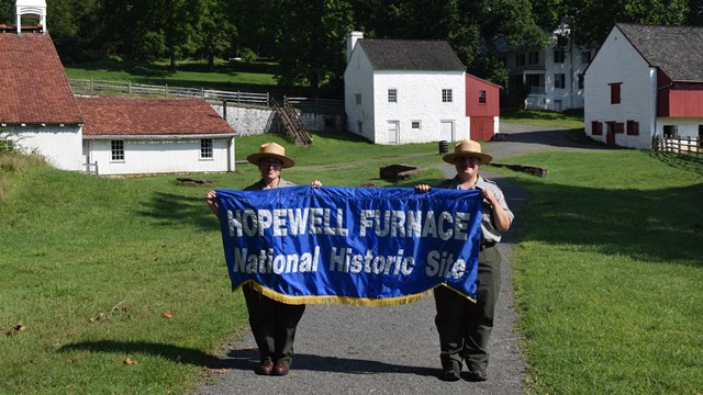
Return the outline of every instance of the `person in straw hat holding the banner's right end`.
<path id="1" fill-rule="evenodd" d="M 443 160 L 455 166 L 457 176 L 439 183 L 437 188 L 480 190 L 483 201 L 476 303 L 449 287 L 434 289 L 437 311 L 435 325 L 439 334 L 439 356 L 444 371 L 442 379 L 459 380 L 464 359 L 469 370 L 467 379 L 480 382 L 488 380 L 488 340 L 501 287 L 502 258 L 495 244 L 501 240 L 501 233 L 510 228 L 514 215 L 507 207 L 501 189 L 479 174 L 480 166 L 492 160 L 490 155 L 481 151 L 479 143 L 459 142 L 454 153 L 445 155 Z M 429 185 L 420 184 L 415 189 L 427 192 Z"/>

